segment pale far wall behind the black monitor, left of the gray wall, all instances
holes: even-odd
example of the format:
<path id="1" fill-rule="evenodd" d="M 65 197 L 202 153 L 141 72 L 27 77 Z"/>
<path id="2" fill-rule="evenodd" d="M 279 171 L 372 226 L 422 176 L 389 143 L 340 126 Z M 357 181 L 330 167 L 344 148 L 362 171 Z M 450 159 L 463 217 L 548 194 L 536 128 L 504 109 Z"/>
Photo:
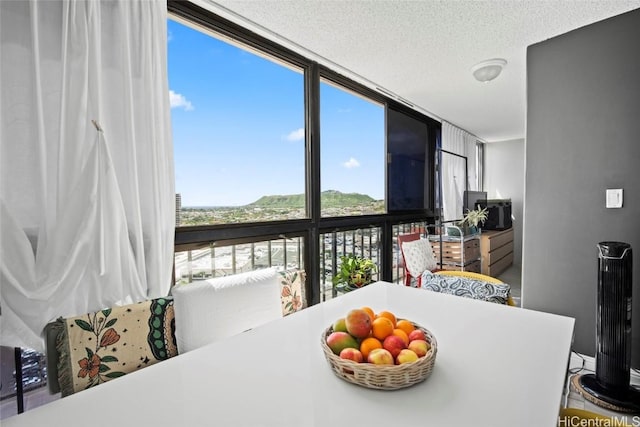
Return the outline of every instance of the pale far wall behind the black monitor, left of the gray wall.
<path id="1" fill-rule="evenodd" d="M 513 263 L 522 265 L 524 139 L 485 144 L 484 191 L 490 199 L 511 199 Z"/>

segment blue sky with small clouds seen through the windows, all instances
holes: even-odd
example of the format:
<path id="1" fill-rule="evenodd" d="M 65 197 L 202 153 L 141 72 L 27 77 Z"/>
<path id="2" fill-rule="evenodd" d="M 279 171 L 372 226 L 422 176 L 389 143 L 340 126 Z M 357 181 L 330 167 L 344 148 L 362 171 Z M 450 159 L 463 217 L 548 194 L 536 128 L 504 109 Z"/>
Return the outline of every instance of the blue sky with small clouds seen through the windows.
<path id="1" fill-rule="evenodd" d="M 168 22 L 176 192 L 234 206 L 304 192 L 304 88 L 292 70 Z M 321 84 L 321 188 L 384 197 L 384 109 Z"/>

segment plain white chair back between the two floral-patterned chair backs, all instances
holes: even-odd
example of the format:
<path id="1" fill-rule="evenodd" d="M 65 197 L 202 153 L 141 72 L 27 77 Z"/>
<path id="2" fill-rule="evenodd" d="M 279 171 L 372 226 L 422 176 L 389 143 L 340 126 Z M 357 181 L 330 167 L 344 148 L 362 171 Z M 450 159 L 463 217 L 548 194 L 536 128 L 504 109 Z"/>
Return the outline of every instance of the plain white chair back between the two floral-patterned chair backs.
<path id="1" fill-rule="evenodd" d="M 282 317 L 276 269 L 174 286 L 178 351 L 191 351 Z"/>

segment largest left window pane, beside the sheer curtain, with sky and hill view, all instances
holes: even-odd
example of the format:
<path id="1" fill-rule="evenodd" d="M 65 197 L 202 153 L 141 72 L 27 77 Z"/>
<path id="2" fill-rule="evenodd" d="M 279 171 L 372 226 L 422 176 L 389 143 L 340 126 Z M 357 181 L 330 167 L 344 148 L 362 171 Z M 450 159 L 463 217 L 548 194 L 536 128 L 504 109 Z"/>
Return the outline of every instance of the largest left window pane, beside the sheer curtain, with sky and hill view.
<path id="1" fill-rule="evenodd" d="M 177 226 L 307 218 L 304 70 L 168 21 Z"/>

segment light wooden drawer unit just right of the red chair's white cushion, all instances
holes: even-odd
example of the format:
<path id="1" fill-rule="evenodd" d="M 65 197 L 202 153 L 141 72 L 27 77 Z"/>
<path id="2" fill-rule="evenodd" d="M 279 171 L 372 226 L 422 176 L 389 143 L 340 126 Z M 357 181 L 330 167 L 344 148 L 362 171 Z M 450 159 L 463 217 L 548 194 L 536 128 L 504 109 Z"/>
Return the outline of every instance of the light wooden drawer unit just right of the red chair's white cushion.
<path id="1" fill-rule="evenodd" d="M 441 270 L 462 270 L 480 273 L 480 239 L 479 235 L 461 237 L 439 235 L 429 236 L 433 256 Z M 442 244 L 442 264 L 440 250 Z"/>

